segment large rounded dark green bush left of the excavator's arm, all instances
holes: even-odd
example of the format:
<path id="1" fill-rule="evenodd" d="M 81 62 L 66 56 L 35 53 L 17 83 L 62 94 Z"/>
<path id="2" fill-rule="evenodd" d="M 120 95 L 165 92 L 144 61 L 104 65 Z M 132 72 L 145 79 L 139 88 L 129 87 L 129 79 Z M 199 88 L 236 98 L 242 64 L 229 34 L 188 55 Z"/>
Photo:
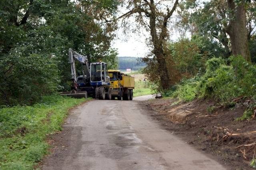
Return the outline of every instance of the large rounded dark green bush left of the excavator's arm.
<path id="1" fill-rule="evenodd" d="M 58 90 L 62 52 L 54 45 L 62 40 L 51 33 L 47 27 L 30 30 L 29 41 L 17 43 L 8 54 L 0 51 L 0 105 L 32 105 Z"/>

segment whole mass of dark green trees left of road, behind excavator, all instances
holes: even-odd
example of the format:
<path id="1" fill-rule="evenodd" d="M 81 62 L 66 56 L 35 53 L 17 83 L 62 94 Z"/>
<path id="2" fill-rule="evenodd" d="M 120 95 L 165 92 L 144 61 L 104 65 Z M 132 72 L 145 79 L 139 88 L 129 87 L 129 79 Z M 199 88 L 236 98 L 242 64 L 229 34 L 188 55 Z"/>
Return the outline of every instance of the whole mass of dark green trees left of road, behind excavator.
<path id="1" fill-rule="evenodd" d="M 68 88 L 68 48 L 116 68 L 117 51 L 111 48 L 116 26 L 105 22 L 116 8 L 117 1 L 109 0 L 3 0 L 0 105 L 31 105 Z"/>

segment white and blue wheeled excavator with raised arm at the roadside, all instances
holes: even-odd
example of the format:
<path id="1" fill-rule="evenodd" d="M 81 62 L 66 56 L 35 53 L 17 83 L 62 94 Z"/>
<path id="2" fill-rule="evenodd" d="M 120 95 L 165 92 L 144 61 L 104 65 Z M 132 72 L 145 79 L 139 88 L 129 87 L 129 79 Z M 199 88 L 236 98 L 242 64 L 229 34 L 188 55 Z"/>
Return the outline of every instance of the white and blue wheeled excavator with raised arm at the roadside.
<path id="1" fill-rule="evenodd" d="M 110 87 L 110 77 L 108 76 L 108 65 L 104 62 L 88 63 L 88 59 L 84 55 L 80 55 L 71 48 L 68 49 L 69 64 L 71 70 L 71 90 L 63 92 L 74 98 L 93 97 L 96 99 L 111 99 L 112 88 Z M 82 65 L 82 75 L 76 75 L 75 60 Z"/>

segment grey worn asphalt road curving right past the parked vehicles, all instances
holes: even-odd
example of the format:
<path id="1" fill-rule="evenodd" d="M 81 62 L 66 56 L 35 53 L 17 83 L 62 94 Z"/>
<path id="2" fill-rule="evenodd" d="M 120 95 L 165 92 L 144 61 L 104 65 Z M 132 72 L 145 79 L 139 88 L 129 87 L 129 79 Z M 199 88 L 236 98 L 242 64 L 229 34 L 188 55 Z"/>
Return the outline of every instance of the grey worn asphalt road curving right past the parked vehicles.
<path id="1" fill-rule="evenodd" d="M 44 170 L 223 170 L 210 155 L 164 130 L 133 101 L 93 100 L 70 111 Z M 137 100 L 137 101 L 136 101 Z M 65 131 L 66 130 L 66 131 Z"/>

